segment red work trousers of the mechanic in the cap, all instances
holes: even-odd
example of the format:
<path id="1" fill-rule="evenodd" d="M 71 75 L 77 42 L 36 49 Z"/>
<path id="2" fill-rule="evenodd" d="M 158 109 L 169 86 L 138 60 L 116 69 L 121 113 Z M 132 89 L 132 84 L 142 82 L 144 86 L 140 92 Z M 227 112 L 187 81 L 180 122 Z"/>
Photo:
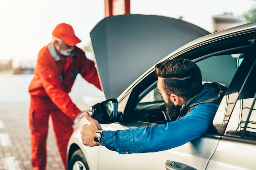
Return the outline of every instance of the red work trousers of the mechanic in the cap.
<path id="1" fill-rule="evenodd" d="M 49 117 L 52 120 L 56 144 L 67 169 L 67 143 L 73 132 L 73 120 L 59 110 L 49 99 L 31 97 L 29 128 L 31 131 L 31 161 L 33 170 L 45 170 L 47 163 L 46 141 Z"/>

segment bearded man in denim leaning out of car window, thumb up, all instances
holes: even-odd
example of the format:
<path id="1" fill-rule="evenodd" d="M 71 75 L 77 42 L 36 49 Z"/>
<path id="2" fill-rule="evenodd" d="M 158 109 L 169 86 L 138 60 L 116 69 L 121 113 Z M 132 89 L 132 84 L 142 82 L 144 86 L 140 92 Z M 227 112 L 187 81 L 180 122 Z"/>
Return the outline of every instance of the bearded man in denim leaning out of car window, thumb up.
<path id="1" fill-rule="evenodd" d="M 94 135 L 102 128 L 85 112 L 91 124 L 82 126 L 82 143 L 103 145 L 120 154 L 157 152 L 181 146 L 207 132 L 226 88 L 215 82 L 202 84 L 200 68 L 189 59 L 165 60 L 156 64 L 155 74 L 166 113 L 173 121 L 126 130 L 103 130 L 96 142 Z"/>

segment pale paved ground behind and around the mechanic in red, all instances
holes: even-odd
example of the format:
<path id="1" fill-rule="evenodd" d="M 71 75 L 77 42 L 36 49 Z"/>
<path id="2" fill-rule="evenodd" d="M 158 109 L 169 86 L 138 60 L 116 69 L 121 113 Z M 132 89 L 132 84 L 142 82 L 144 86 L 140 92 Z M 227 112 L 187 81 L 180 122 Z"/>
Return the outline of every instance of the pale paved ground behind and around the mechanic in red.
<path id="1" fill-rule="evenodd" d="M 31 75 L 0 75 L 0 170 L 31 170 L 28 124 Z M 81 110 L 103 100 L 102 94 L 78 79 L 71 97 Z M 93 97 L 93 95 L 99 97 Z M 87 104 L 85 104 L 85 102 Z M 47 170 L 63 170 L 50 123 L 47 138 Z"/>

